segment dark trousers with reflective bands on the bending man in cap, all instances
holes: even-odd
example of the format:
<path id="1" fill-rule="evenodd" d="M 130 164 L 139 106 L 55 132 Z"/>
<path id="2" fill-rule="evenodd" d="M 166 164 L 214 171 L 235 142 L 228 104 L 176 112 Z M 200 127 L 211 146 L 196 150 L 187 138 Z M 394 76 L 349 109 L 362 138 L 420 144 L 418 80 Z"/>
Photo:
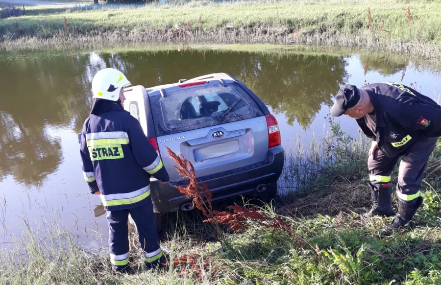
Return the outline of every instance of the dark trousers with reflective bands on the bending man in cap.
<path id="1" fill-rule="evenodd" d="M 396 193 L 399 199 L 406 201 L 411 206 L 420 195 L 419 190 L 424 170 L 437 140 L 438 137 L 420 139 L 401 155 Z M 369 156 L 369 185 L 372 190 L 381 191 L 391 187 L 391 173 L 399 157 L 387 157 L 379 148 L 374 153 L 374 159 Z"/>

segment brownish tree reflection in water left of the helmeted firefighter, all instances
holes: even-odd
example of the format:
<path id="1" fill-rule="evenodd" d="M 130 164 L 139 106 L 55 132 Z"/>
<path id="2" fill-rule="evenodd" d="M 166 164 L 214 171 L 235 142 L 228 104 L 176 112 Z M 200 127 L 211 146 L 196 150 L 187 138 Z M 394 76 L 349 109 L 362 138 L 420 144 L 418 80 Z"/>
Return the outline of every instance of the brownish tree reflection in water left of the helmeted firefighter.
<path id="1" fill-rule="evenodd" d="M 72 61 L 71 61 L 72 60 Z M 1 63 L 0 179 L 38 185 L 63 160 L 49 129 L 80 129 L 88 114 L 89 77 L 83 56 L 16 57 Z"/>

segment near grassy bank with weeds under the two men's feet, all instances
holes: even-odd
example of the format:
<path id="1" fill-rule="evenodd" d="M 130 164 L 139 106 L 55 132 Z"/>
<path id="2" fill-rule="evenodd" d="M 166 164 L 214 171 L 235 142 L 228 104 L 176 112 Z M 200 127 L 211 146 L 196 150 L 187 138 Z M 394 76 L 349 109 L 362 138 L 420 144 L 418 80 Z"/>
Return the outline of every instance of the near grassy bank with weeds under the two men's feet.
<path id="1" fill-rule="evenodd" d="M 192 255 L 193 261 L 187 256 L 192 263 L 184 267 L 171 262 L 167 269 L 150 272 L 134 248 L 130 262 L 137 273 L 115 276 L 106 249 L 99 256 L 76 246 L 67 232 L 57 230 L 43 240 L 37 238 L 40 233 L 28 231 L 22 237 L 23 248 L 0 254 L 0 283 L 441 283 L 440 145 L 425 172 L 421 189 L 425 200 L 415 217 L 416 229 L 390 237 L 381 237 L 380 231 L 391 218 L 359 215 L 369 207 L 366 140 L 352 140 L 333 124 L 332 134 L 312 144 L 306 156 L 300 150 L 301 145 L 294 149 L 282 177 L 295 179 L 297 192 L 279 201 L 276 210 L 294 232 L 291 237 L 249 221 L 246 231 L 214 241 L 213 227 L 203 223 L 198 212 L 173 214 L 162 248 L 169 261 Z M 396 172 L 392 177 L 396 183 Z M 269 208 L 263 210 L 274 215 Z"/>

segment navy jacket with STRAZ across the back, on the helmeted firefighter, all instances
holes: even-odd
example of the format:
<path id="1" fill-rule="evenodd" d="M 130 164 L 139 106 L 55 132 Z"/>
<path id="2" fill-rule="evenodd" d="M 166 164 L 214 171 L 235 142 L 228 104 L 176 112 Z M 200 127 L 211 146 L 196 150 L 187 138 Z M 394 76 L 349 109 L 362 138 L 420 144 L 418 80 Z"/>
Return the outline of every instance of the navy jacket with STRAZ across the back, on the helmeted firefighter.
<path id="1" fill-rule="evenodd" d="M 86 119 L 80 154 L 84 179 L 92 193 L 100 191 L 108 211 L 145 203 L 150 195 L 150 175 L 169 180 L 139 121 L 118 104 Z"/>

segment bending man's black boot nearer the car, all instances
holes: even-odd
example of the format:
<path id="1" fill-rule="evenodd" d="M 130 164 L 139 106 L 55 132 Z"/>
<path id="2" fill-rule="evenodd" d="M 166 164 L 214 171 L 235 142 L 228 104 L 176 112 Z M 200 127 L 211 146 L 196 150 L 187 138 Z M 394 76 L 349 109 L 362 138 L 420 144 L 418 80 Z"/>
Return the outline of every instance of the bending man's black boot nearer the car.
<path id="1" fill-rule="evenodd" d="M 379 191 L 369 183 L 370 192 L 372 195 L 372 208 L 364 216 L 393 216 L 395 213 L 392 210 L 392 184 L 380 184 Z"/>

